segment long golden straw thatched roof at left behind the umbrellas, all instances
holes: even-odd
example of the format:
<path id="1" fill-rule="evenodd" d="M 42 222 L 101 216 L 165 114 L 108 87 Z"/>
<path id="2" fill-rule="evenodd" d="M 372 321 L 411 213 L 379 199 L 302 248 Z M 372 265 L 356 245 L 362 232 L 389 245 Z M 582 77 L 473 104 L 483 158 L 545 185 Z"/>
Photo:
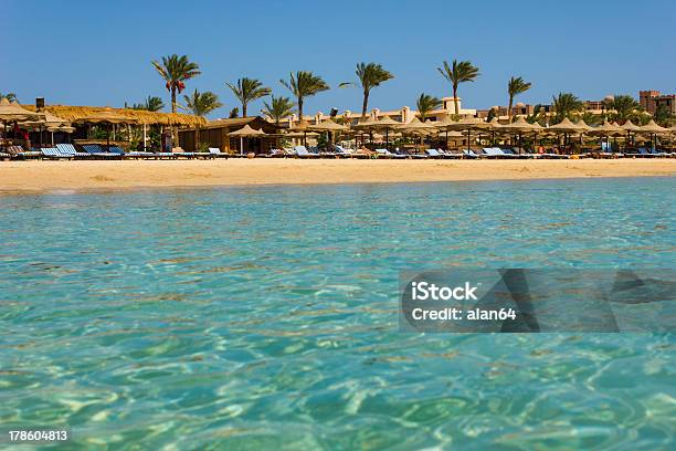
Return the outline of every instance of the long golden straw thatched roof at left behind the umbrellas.
<path id="1" fill-rule="evenodd" d="M 25 109 L 35 111 L 34 105 L 22 105 Z M 145 109 L 131 108 L 110 108 L 104 106 L 70 106 L 70 105 L 46 105 L 47 112 L 62 117 L 71 123 L 75 123 L 87 117 L 96 116 L 103 112 L 114 112 L 120 116 L 134 119 L 136 124 L 145 125 L 177 125 L 184 127 L 202 126 L 207 119 L 199 116 L 179 113 L 156 113 Z"/>

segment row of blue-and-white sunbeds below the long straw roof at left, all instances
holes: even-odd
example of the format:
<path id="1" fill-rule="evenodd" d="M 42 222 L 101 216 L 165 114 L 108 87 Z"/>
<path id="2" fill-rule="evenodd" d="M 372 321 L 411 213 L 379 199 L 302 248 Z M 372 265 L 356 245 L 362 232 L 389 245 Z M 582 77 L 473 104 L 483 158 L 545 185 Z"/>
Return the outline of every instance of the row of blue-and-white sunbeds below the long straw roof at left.
<path id="1" fill-rule="evenodd" d="M 145 159 L 178 159 L 178 158 L 228 158 L 228 154 L 221 153 L 218 148 L 209 148 L 203 151 L 126 151 L 118 146 L 104 148 L 98 144 L 82 145 L 82 151 L 72 144 L 57 144 L 54 147 L 42 149 L 24 150 L 20 146 L 10 146 L 7 151 L 0 153 L 0 158 L 4 159 L 123 159 L 123 158 L 145 158 Z"/>

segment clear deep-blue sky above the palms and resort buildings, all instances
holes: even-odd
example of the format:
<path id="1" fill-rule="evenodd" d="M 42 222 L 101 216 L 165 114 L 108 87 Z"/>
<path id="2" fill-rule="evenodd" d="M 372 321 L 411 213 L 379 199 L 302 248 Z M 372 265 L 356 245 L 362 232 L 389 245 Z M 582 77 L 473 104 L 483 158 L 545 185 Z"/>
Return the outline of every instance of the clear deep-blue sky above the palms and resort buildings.
<path id="1" fill-rule="evenodd" d="M 305 112 L 359 111 L 361 94 L 338 88 L 358 62 L 395 78 L 370 107 L 414 106 L 421 92 L 450 95 L 443 60 L 471 60 L 482 75 L 461 86 L 466 107 L 505 105 L 506 83 L 534 83 L 518 101 L 547 103 L 560 91 L 584 99 L 638 90 L 676 91 L 676 1 L 30 1 L 0 3 L 0 92 L 32 103 L 123 106 L 168 93 L 150 65 L 188 54 L 202 75 L 187 88 L 213 91 L 228 114 L 225 81 L 256 77 L 275 94 L 289 71 L 321 75 L 331 91 Z M 19 38 L 15 38 L 19 36 Z M 250 105 L 255 114 L 261 102 Z"/>

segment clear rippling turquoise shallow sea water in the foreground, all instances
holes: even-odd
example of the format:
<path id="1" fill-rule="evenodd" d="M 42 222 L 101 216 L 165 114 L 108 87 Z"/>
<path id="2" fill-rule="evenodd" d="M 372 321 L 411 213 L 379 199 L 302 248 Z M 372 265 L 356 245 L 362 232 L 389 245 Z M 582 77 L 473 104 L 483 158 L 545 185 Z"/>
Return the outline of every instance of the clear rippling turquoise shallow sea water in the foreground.
<path id="1" fill-rule="evenodd" d="M 73 449 L 673 448 L 673 335 L 402 334 L 397 290 L 673 266 L 675 187 L 0 197 L 0 424 L 68 424 Z"/>

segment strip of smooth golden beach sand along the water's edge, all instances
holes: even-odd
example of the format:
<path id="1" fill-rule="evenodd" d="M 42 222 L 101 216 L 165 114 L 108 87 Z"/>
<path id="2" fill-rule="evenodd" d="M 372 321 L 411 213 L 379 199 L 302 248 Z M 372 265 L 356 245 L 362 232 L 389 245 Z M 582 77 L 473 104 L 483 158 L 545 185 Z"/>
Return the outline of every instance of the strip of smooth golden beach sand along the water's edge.
<path id="1" fill-rule="evenodd" d="M 673 176 L 676 159 L 6 161 L 0 191 Z"/>

